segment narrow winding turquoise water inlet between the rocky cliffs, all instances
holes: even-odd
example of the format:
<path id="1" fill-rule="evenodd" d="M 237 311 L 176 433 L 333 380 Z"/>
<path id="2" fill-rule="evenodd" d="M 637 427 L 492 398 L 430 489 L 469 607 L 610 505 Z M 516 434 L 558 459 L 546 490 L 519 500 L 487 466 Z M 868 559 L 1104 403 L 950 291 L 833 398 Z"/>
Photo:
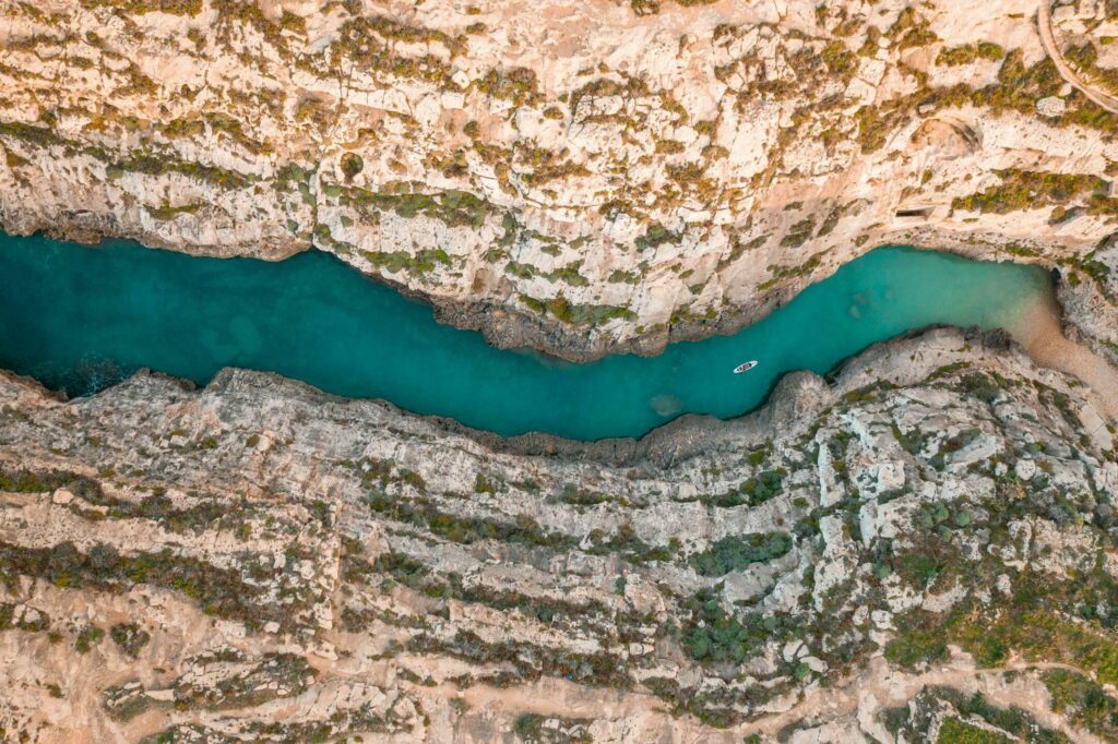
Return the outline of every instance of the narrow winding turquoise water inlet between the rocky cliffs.
<path id="1" fill-rule="evenodd" d="M 501 435 L 575 439 L 639 436 L 683 412 L 738 416 L 785 372 L 824 373 L 932 323 L 1011 326 L 1050 292 L 1038 268 L 881 248 L 733 336 L 570 364 L 439 325 L 321 252 L 266 263 L 0 237 L 0 368 L 72 395 L 141 366 L 205 383 L 231 365 Z"/>

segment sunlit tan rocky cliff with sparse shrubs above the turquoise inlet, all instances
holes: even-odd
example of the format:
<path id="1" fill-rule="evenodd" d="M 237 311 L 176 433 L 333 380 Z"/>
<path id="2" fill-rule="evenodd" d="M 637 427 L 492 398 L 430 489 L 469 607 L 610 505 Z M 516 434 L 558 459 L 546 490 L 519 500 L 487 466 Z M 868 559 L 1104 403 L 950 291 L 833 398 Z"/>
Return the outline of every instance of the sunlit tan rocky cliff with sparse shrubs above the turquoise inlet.
<path id="1" fill-rule="evenodd" d="M 1036 11 L 7 2 L 0 225 L 314 246 L 496 343 L 576 359 L 729 330 L 917 242 L 1059 266 L 1101 347 L 1118 118 L 1064 83 Z M 1058 51 L 1090 61 L 1110 37 L 1084 42 L 1098 23 L 1072 16 Z"/>

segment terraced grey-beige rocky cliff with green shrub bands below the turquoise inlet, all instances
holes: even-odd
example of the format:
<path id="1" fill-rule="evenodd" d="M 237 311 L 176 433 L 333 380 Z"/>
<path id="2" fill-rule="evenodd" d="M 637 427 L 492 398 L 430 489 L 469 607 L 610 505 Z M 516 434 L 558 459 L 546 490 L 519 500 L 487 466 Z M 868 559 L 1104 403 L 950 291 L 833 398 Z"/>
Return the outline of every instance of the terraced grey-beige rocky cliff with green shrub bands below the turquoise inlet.
<path id="1" fill-rule="evenodd" d="M 72 402 L 4 376 L 0 731 L 1111 738 L 1097 406 L 957 331 L 596 445 L 241 371 Z"/>

